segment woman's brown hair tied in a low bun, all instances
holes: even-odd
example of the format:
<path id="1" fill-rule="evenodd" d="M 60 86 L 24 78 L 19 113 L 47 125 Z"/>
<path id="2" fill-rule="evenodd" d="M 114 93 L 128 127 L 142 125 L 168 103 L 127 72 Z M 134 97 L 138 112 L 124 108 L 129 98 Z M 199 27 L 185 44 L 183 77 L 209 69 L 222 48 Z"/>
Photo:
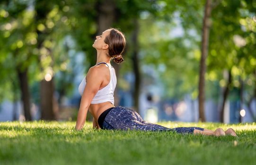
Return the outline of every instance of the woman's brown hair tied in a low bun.
<path id="1" fill-rule="evenodd" d="M 113 58 L 115 63 L 121 63 L 124 61 L 122 53 L 125 47 L 125 37 L 122 32 L 115 28 L 110 28 L 110 33 L 105 38 L 105 43 L 108 44 L 108 56 Z"/>

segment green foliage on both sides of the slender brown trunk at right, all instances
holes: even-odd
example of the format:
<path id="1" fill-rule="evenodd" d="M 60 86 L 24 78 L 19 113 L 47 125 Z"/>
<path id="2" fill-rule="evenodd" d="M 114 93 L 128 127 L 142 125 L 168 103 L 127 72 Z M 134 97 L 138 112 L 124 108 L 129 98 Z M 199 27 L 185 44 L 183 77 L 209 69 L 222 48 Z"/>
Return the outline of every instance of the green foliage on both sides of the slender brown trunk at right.
<path id="1" fill-rule="evenodd" d="M 150 14 L 141 17 L 141 60 L 145 65 L 153 64 L 158 71 L 166 87 L 166 97 L 182 99 L 184 94 L 190 93 L 195 99 L 198 95 L 205 2 L 165 0 L 159 3 L 162 3 L 162 8 L 158 17 Z M 227 69 L 231 70 L 233 77 L 230 90 L 240 87 L 240 77 L 246 82 L 246 89 L 254 89 L 254 3 L 251 0 L 213 1 L 206 73 L 207 98 L 219 99 L 221 87 L 227 83 L 223 77 L 223 71 Z M 175 36 L 175 31 L 182 31 L 182 34 Z M 242 46 L 235 39 L 240 40 Z"/>

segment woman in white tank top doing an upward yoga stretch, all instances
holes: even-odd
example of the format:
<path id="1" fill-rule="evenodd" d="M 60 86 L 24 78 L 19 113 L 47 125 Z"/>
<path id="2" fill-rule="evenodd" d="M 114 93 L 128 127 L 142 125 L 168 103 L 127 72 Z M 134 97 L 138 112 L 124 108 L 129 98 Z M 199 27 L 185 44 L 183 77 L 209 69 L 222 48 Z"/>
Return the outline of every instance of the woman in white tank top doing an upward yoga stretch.
<path id="1" fill-rule="evenodd" d="M 82 96 L 77 116 L 76 130 L 83 128 L 87 112 L 93 116 L 93 128 L 141 130 L 141 131 L 176 131 L 178 133 L 193 133 L 204 135 L 236 136 L 233 129 L 224 132 L 221 128 L 215 131 L 199 127 L 167 128 L 158 124 L 151 124 L 142 120 L 134 110 L 126 107 L 114 106 L 114 91 L 116 86 L 115 69 L 110 60 L 115 63 L 124 61 L 122 53 L 125 47 L 124 34 L 117 29 L 107 29 L 100 36 L 96 36 L 93 47 L 97 50 L 97 63 L 91 67 L 86 77 L 79 85 Z"/>

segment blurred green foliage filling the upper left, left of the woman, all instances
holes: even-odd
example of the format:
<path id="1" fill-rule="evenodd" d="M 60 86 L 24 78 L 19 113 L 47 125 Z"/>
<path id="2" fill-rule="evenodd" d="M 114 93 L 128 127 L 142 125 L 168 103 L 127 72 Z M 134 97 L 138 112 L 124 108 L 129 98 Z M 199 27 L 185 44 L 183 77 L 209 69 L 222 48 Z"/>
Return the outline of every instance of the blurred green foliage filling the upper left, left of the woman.
<path id="1" fill-rule="evenodd" d="M 47 73 L 52 76 L 59 71 L 68 74 L 70 79 L 62 79 L 57 90 L 64 88 L 66 94 L 72 91 L 74 75 L 72 70 L 67 70 L 70 69 L 67 67 L 70 59 L 67 52 L 63 53 L 66 50 L 63 43 L 76 20 L 66 16 L 70 7 L 65 1 L 32 2 L 11 0 L 0 3 L 0 86 L 5 89 L 0 92 L 0 101 L 17 97 L 17 69 L 28 68 L 31 93 L 37 96 L 32 101 L 36 103 L 38 89 L 33 87 L 38 87 L 37 83 Z"/>

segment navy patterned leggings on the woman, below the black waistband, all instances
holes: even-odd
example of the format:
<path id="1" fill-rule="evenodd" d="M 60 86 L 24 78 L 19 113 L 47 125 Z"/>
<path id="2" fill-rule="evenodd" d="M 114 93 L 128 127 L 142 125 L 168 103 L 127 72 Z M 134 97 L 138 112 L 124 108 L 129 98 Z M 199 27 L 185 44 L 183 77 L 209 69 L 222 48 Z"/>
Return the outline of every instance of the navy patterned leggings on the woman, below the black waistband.
<path id="1" fill-rule="evenodd" d="M 144 121 L 134 110 L 127 107 L 114 107 L 106 115 L 103 122 L 106 130 L 141 130 L 141 131 L 176 131 L 177 133 L 193 133 L 194 129 L 203 131 L 199 127 L 167 128 L 158 124 Z"/>

